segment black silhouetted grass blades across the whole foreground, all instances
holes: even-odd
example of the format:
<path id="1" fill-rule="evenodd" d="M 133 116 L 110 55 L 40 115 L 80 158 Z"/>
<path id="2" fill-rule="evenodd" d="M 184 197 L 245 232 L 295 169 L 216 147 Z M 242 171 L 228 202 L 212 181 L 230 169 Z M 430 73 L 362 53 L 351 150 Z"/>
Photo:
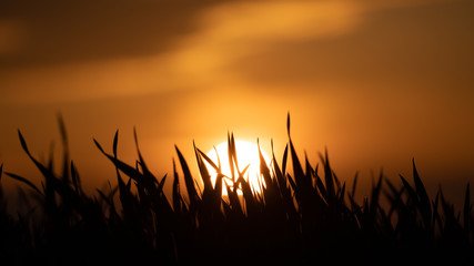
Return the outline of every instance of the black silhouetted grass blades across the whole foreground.
<path id="1" fill-rule="evenodd" d="M 321 164 L 315 167 L 307 158 L 297 157 L 290 137 L 290 119 L 283 158 L 278 161 L 273 154 L 271 168 L 261 164 L 265 183 L 261 194 L 253 193 L 243 180 L 245 165 L 235 165 L 239 171 L 232 176 L 220 174 L 214 187 L 205 162 L 218 172 L 220 163 L 211 162 L 198 147 L 198 178 L 203 187 L 196 185 L 178 147 L 181 170 L 174 167 L 168 177 L 157 178 L 138 143 L 135 165 L 118 158 L 115 134 L 111 152 L 94 142 L 115 166 L 118 185 L 87 195 L 68 156 L 62 122 L 60 125 L 65 151 L 60 175 L 53 173 L 52 158 L 42 164 L 31 155 L 19 132 L 21 146 L 43 181 L 37 187 L 28 178 L 3 173 L 3 178 L 12 177 L 29 186 L 23 202 L 33 204 L 30 212 L 11 215 L 0 190 L 2 265 L 474 263 L 468 185 L 464 206 L 457 211 L 441 188 L 434 198 L 427 196 L 413 163 L 411 178 L 400 176 L 400 183 L 394 184 L 381 175 L 371 194 L 356 202 L 357 177 L 350 185 L 341 183 L 327 153 L 321 155 Z M 235 164 L 232 135 L 229 151 L 229 158 L 222 160 Z M 291 173 L 286 165 L 291 165 Z M 0 167 L 0 177 L 1 173 Z M 232 181 L 233 187 L 240 186 L 243 195 L 226 186 L 223 178 Z M 171 196 L 163 192 L 167 181 L 173 183 Z M 221 195 L 222 186 L 229 196 Z"/>

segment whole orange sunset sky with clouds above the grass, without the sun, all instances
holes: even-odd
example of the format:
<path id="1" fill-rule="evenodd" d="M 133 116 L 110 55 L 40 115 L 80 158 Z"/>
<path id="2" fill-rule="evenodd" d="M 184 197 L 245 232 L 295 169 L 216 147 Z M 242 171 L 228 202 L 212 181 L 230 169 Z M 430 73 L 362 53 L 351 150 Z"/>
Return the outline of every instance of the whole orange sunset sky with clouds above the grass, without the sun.
<path id="1" fill-rule="evenodd" d="M 114 178 L 92 139 L 158 176 L 226 140 L 281 157 L 327 149 L 337 176 L 412 176 L 454 196 L 474 181 L 471 0 L 0 1 L 0 162 L 60 157 L 61 113 L 88 187 Z M 54 143 L 54 144 L 52 144 Z M 2 178 L 2 183 L 14 184 Z"/>

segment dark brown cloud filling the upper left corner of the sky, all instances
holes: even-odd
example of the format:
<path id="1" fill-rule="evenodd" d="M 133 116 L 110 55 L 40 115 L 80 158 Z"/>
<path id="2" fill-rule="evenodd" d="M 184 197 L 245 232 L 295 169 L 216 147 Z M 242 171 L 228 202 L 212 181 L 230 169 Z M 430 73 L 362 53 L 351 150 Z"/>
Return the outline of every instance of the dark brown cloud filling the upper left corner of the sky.
<path id="1" fill-rule="evenodd" d="M 195 29 L 200 1 L 16 1 L 0 3 L 0 22 L 23 27 L 23 43 L 0 66 L 48 65 L 157 53 Z"/>

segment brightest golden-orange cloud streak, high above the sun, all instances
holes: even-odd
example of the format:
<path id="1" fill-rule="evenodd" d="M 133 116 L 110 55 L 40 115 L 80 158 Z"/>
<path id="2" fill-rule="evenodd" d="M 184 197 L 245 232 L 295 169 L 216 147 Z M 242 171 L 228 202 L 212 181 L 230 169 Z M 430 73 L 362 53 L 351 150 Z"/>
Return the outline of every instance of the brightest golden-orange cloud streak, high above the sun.
<path id="1" fill-rule="evenodd" d="M 200 31 L 182 38 L 173 68 L 192 76 L 216 76 L 235 60 L 264 50 L 269 42 L 327 38 L 357 24 L 346 1 L 259 1 L 222 4 L 201 13 Z"/>

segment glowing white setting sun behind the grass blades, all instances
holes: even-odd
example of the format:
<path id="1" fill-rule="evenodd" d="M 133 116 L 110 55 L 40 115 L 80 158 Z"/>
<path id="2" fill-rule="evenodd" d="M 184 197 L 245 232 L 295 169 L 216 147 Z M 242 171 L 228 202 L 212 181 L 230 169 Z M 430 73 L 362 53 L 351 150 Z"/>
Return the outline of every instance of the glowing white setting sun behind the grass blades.
<path id="1" fill-rule="evenodd" d="M 231 167 L 229 165 L 229 144 L 228 142 L 222 142 L 215 146 L 215 150 L 212 149 L 206 153 L 206 155 L 218 164 L 218 156 L 221 162 L 222 174 L 232 178 Z M 260 147 L 263 158 L 265 160 L 266 165 L 270 168 L 270 156 L 265 151 Z M 261 193 L 261 187 L 264 186 L 264 181 L 260 174 L 260 156 L 259 156 L 259 146 L 254 143 L 235 140 L 235 154 L 238 158 L 239 171 L 243 171 L 248 165 L 249 168 L 244 174 L 244 180 L 249 182 L 252 191 L 254 193 Z M 215 180 L 218 176 L 216 171 L 206 163 L 209 174 L 211 175 L 212 184 L 215 185 Z M 236 166 L 234 165 L 234 174 L 238 176 Z M 222 185 L 222 194 L 228 195 L 228 191 L 224 184 L 228 184 L 230 187 L 233 187 L 233 182 L 230 178 L 223 178 L 225 183 Z M 238 194 L 242 195 L 242 191 L 239 188 Z"/>

